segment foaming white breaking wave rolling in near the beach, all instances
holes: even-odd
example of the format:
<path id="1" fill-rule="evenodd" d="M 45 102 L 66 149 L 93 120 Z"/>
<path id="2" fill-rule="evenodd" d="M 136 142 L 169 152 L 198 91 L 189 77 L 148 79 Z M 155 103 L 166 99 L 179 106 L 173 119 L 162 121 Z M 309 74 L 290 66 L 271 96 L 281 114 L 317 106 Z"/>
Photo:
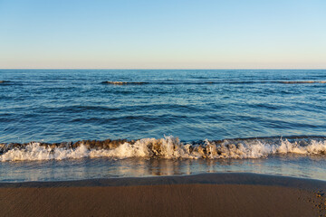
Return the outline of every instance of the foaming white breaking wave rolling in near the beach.
<path id="1" fill-rule="evenodd" d="M 62 160 L 82 157 L 261 158 L 271 155 L 326 155 L 326 137 L 261 137 L 180 142 L 177 137 L 139 140 L 83 140 L 76 143 L 0 144 L 0 161 Z"/>

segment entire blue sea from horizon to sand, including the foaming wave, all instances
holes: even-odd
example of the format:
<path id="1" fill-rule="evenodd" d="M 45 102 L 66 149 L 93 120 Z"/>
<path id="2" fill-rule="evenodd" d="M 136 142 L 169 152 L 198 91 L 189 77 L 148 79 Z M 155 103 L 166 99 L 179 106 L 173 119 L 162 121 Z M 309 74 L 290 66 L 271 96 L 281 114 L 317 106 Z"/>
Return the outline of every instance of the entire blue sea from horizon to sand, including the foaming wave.
<path id="1" fill-rule="evenodd" d="M 326 70 L 0 70 L 0 182 L 326 181 Z"/>

